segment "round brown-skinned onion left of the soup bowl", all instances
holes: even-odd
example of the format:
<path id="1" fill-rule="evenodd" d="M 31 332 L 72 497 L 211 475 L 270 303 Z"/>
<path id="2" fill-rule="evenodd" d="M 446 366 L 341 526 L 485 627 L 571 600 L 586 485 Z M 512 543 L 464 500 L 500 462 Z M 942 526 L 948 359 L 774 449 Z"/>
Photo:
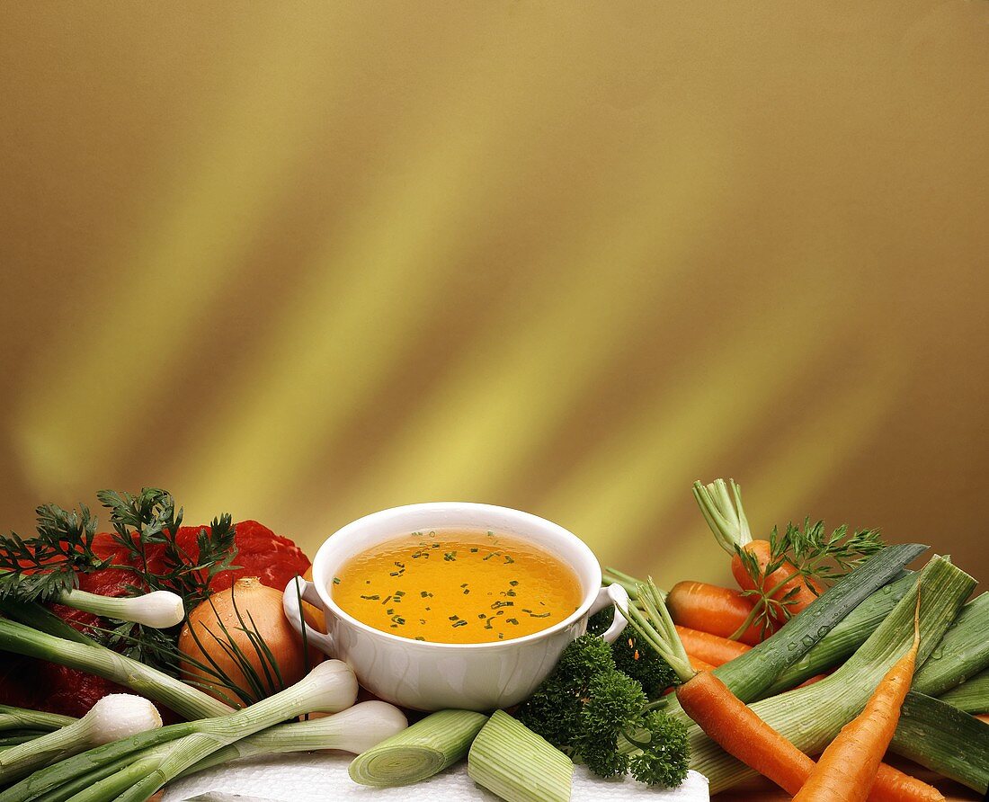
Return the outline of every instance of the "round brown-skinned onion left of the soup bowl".
<path id="1" fill-rule="evenodd" d="M 234 603 L 236 609 L 234 609 Z M 240 619 L 243 619 L 243 624 L 237 618 L 237 612 L 240 614 Z M 311 626 L 314 625 L 315 622 L 308 610 L 304 612 L 304 615 L 307 622 Z M 253 624 L 251 623 L 252 620 Z M 228 635 L 224 633 L 220 626 L 221 623 L 226 628 Z M 268 649 L 271 650 L 278 662 L 278 673 L 282 679 L 281 685 L 270 663 L 267 660 L 262 661 L 250 638 L 242 631 L 244 626 L 248 629 L 256 628 Z M 190 628 L 195 629 L 196 636 L 199 638 L 200 644 L 206 649 L 209 659 L 203 655 L 200 646 L 190 632 Z M 217 639 L 219 639 L 228 645 L 228 638 L 237 644 L 254 668 L 264 688 L 262 694 L 256 692 L 254 685 L 248 681 L 244 672 L 217 643 Z M 207 666 L 211 665 L 211 660 L 216 662 L 223 668 L 230 680 L 251 697 L 252 701 L 277 693 L 282 687 L 293 685 L 306 675 L 307 666 L 302 639 L 285 618 L 285 613 L 282 610 L 282 593 L 272 587 L 267 587 L 254 577 L 237 579 L 229 590 L 214 593 L 210 598 L 201 602 L 196 609 L 189 613 L 189 618 L 179 634 L 178 646 L 183 655 L 194 661 Z M 322 658 L 323 655 L 311 647 L 309 650 L 309 668 L 321 662 Z M 223 701 L 232 699 L 238 704 L 242 703 L 236 694 L 206 670 L 186 661 L 183 661 L 180 667 L 183 679 L 204 683 L 205 686 L 202 687 L 202 690 L 214 698 Z M 265 668 L 268 669 L 268 673 L 265 672 Z M 269 673 L 271 674 L 270 680 L 268 678 Z"/>

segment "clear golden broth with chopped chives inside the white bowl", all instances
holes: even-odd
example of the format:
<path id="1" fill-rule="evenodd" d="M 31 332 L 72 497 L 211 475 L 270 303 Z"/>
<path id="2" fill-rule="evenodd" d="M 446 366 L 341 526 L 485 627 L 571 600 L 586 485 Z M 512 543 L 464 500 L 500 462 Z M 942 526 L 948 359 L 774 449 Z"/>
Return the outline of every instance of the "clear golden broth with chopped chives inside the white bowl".
<path id="1" fill-rule="evenodd" d="M 433 529 L 352 557 L 332 584 L 341 609 L 375 629 L 433 643 L 507 641 L 581 604 L 574 571 L 510 535 Z"/>

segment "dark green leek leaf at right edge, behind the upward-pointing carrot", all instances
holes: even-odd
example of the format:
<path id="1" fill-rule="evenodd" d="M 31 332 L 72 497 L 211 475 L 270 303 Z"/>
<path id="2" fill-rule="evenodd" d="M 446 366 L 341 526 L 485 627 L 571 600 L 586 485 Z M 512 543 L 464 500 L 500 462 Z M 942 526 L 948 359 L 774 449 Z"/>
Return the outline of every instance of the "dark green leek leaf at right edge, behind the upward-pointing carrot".
<path id="1" fill-rule="evenodd" d="M 890 748 L 980 794 L 989 790 L 989 726 L 940 699 L 908 693 Z"/>

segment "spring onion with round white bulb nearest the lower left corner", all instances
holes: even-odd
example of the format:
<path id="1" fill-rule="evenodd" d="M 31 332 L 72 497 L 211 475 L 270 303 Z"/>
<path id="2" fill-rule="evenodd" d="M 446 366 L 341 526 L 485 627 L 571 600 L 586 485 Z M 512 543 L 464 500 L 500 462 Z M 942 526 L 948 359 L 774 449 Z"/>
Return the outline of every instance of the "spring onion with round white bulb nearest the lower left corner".
<path id="1" fill-rule="evenodd" d="M 130 693 L 104 696 L 81 719 L 0 755 L 0 784 L 30 774 L 56 759 L 76 755 L 161 726 L 150 701 Z"/>

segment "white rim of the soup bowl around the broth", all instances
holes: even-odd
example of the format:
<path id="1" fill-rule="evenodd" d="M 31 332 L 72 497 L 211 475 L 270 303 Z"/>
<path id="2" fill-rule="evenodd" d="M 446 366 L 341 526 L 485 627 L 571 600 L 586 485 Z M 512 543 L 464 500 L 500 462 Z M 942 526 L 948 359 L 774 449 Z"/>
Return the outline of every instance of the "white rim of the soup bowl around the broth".
<path id="1" fill-rule="evenodd" d="M 584 590 L 584 600 L 581 602 L 580 606 L 574 610 L 569 616 L 564 618 L 562 621 L 558 621 L 552 626 L 546 629 L 541 629 L 537 632 L 530 632 L 528 635 L 522 635 L 518 638 L 509 638 L 508 640 L 502 641 L 484 641 L 482 643 L 440 643 L 437 641 L 416 641 L 412 638 L 404 638 L 401 635 L 393 635 L 391 632 L 385 632 L 384 630 L 372 627 L 370 624 L 365 624 L 363 621 L 354 618 L 352 615 L 344 611 L 333 601 L 332 593 L 329 590 L 329 583 L 327 581 L 319 580 L 318 577 L 323 574 L 322 566 L 325 562 L 325 550 L 329 546 L 330 542 L 334 537 L 337 537 L 341 533 L 347 537 L 348 530 L 359 529 L 361 526 L 366 526 L 370 523 L 377 522 L 379 518 L 392 518 L 399 517 L 402 514 L 422 512 L 427 509 L 435 511 L 449 511 L 451 509 L 463 509 L 470 510 L 473 512 L 494 512 L 498 515 L 507 515 L 508 517 L 516 517 L 521 521 L 535 525 L 540 528 L 544 528 L 547 531 L 553 532 L 556 535 L 562 535 L 564 538 L 570 538 L 579 551 L 584 551 L 584 556 L 587 559 L 587 564 L 592 566 L 593 574 L 597 577 L 596 585 L 590 586 Z M 513 537 L 525 538 L 524 534 L 518 532 L 511 533 Z M 372 544 L 373 545 L 373 544 Z M 359 554 L 360 550 L 354 551 L 348 555 L 354 557 Z M 559 557 L 559 555 L 557 555 Z M 574 566 L 570 561 L 559 557 L 560 560 L 564 561 L 567 566 L 575 573 L 578 574 L 578 580 L 580 580 L 580 571 L 577 566 Z M 597 558 L 594 553 L 590 550 L 590 547 L 584 543 L 584 541 L 571 532 L 569 529 L 564 528 L 558 523 L 542 518 L 539 515 L 535 515 L 531 512 L 525 512 L 521 509 L 515 509 L 513 507 L 498 506 L 497 504 L 486 504 L 477 501 L 423 501 L 415 504 L 403 504 L 401 506 L 389 507 L 388 509 L 382 509 L 377 512 L 371 512 L 367 515 L 363 515 L 360 518 L 356 518 L 345 526 L 341 526 L 335 532 L 333 532 L 329 537 L 327 537 L 319 548 L 316 550 L 315 558 L 313 559 L 313 584 L 315 585 L 316 594 L 319 596 L 319 600 L 322 602 L 325 609 L 326 615 L 334 615 L 356 627 L 358 630 L 368 633 L 371 636 L 380 636 L 387 639 L 388 642 L 395 644 L 402 644 L 406 648 L 411 647 L 413 650 L 470 650 L 470 651 L 496 651 L 498 649 L 511 649 L 516 646 L 523 646 L 525 644 L 533 643 L 535 641 L 541 640 L 543 638 L 549 638 L 554 634 L 561 632 L 569 627 L 577 624 L 590 609 L 591 605 L 597 599 L 601 591 L 601 566 L 597 562 Z M 332 637 L 332 636 L 330 636 Z"/>

